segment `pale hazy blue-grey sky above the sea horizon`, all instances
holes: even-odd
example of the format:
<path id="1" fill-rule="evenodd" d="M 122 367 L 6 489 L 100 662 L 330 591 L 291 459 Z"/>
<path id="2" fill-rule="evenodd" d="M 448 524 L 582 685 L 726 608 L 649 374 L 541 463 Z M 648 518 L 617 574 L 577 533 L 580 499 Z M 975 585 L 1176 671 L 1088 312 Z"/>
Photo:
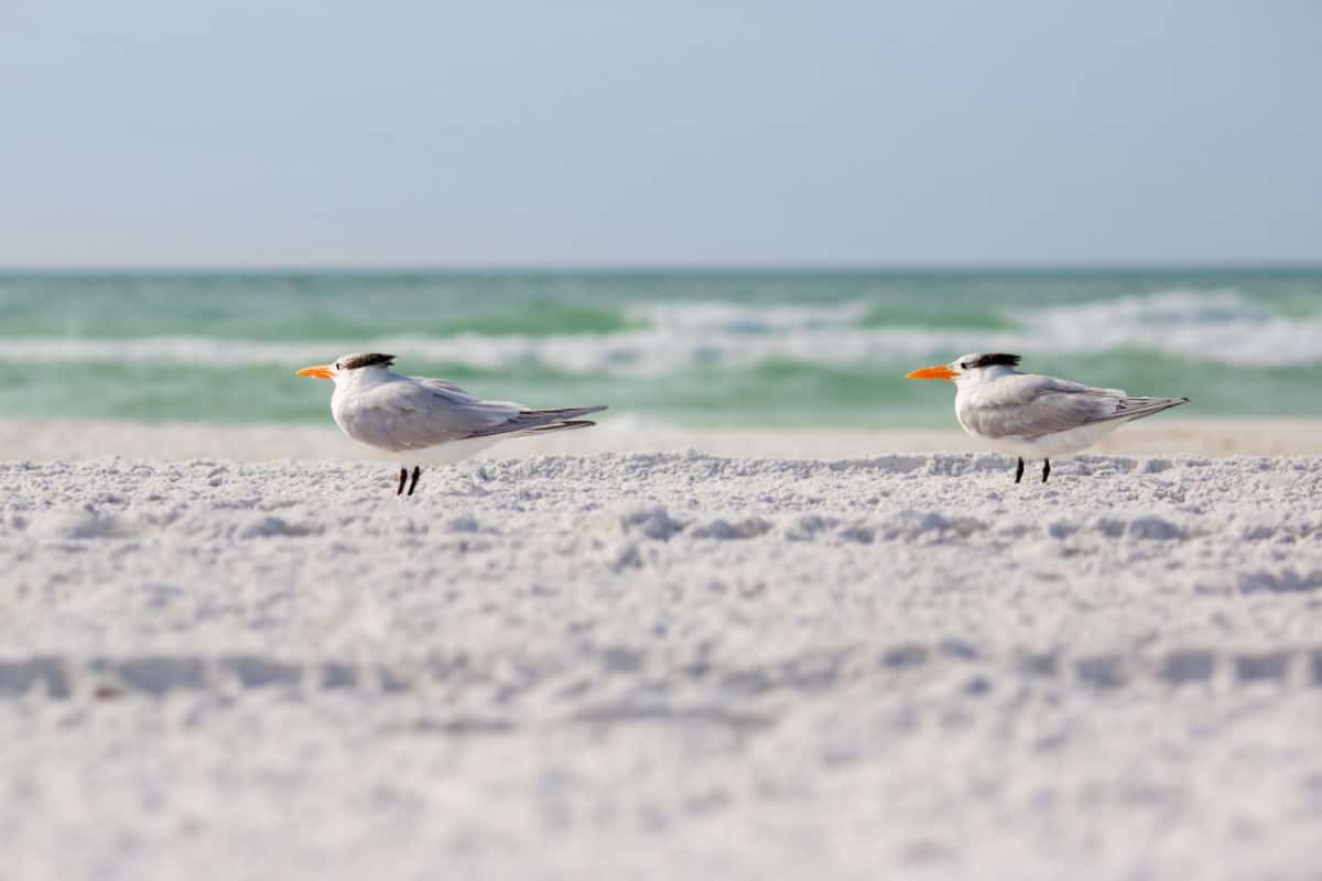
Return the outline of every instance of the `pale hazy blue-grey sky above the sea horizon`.
<path id="1" fill-rule="evenodd" d="M 1322 4 L 0 0 L 0 264 L 1322 260 Z"/>

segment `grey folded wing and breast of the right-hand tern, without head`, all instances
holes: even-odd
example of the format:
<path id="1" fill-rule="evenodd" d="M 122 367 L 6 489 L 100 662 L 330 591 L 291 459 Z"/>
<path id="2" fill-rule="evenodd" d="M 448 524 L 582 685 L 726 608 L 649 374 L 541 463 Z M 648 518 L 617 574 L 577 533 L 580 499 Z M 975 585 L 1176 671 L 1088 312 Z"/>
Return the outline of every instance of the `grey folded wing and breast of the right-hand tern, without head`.
<path id="1" fill-rule="evenodd" d="M 984 437 L 1042 437 L 1093 423 L 1142 419 L 1187 398 L 1130 398 L 1054 376 L 1023 374 L 997 382 L 961 407 L 960 420 Z"/>

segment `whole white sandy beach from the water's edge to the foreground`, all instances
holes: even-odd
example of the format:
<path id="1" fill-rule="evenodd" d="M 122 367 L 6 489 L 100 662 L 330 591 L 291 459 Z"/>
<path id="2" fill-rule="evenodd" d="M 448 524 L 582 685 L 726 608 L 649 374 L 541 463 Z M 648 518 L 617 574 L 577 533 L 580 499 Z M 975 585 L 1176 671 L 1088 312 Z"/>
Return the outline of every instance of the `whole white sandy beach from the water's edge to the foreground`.
<path id="1" fill-rule="evenodd" d="M 594 429 L 403 499 L 69 428 L 0 423 L 3 878 L 1322 877 L 1322 458 L 1214 456 L 1314 423 L 1044 486 Z"/>

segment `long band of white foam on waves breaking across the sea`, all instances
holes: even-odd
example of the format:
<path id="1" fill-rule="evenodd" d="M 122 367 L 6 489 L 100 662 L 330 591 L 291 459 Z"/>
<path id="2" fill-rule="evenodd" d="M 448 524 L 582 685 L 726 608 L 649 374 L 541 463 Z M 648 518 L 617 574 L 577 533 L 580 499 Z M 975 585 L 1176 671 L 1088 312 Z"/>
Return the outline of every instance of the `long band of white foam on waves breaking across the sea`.
<path id="1" fill-rule="evenodd" d="M 1273 314 L 1236 291 L 1163 291 L 1077 305 L 1018 309 L 1019 326 L 861 328 L 870 304 L 752 306 L 657 304 L 640 310 L 646 328 L 598 335 L 459 334 L 374 339 L 243 341 L 202 337 L 135 339 L 0 338 L 0 361 L 188 362 L 286 366 L 345 351 L 391 351 L 402 361 L 502 370 L 539 366 L 570 372 L 664 375 L 769 359 L 817 365 L 944 361 L 964 351 L 1095 354 L 1141 349 L 1237 366 L 1322 362 L 1322 320 Z"/>

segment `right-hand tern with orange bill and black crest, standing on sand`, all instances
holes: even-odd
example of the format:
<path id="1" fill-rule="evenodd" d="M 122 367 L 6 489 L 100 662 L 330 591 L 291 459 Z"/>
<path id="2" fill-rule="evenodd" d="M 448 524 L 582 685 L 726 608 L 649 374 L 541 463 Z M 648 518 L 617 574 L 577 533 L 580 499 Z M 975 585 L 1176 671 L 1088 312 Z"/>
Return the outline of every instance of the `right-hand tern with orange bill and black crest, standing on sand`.
<path id="1" fill-rule="evenodd" d="M 1092 388 L 1068 379 L 1022 374 L 1019 355 L 972 353 L 948 365 L 924 367 L 907 379 L 954 383 L 954 417 L 970 436 L 1019 460 L 1014 482 L 1023 478 L 1023 460 L 1042 460 L 1042 482 L 1051 457 L 1087 449 L 1144 416 L 1187 404 L 1187 398 L 1130 398 L 1118 388 Z"/>

